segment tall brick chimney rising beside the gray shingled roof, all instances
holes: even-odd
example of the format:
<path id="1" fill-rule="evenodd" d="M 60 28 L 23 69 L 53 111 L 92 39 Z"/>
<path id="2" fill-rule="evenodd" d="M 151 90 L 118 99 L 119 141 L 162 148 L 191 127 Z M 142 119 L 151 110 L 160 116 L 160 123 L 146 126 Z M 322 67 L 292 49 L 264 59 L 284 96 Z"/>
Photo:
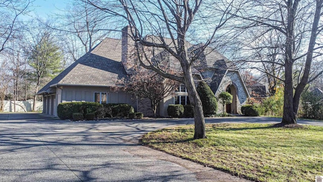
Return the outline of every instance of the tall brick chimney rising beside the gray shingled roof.
<path id="1" fill-rule="evenodd" d="M 134 41 L 131 38 L 131 29 L 130 26 L 125 26 L 122 29 L 122 53 L 121 53 L 121 62 L 127 72 L 127 74 L 131 74 L 133 68 L 135 66 L 135 46 Z"/>

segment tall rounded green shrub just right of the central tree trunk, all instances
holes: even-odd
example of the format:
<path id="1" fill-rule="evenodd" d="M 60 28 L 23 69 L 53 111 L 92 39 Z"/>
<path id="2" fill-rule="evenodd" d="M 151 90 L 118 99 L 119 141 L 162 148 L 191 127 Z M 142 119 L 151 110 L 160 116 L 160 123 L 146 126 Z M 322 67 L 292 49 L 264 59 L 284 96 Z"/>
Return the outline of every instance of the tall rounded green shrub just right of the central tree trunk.
<path id="1" fill-rule="evenodd" d="M 205 83 L 201 81 L 197 88 L 197 93 L 201 99 L 203 113 L 204 115 L 214 115 L 218 110 L 218 102 L 216 96 L 214 96 L 211 88 Z"/>

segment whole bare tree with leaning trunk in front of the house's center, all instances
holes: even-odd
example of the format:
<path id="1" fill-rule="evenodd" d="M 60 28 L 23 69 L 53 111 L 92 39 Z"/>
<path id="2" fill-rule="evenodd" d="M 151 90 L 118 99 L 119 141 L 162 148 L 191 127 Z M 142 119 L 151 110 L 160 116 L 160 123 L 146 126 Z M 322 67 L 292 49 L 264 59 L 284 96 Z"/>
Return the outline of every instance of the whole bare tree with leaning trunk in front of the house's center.
<path id="1" fill-rule="evenodd" d="M 206 138 L 201 100 L 196 92 L 192 65 L 198 64 L 200 55 L 210 44 L 221 42 L 220 32 L 237 10 L 233 2 L 158 0 L 158 1 L 87 1 L 109 16 L 121 18 L 130 26 L 137 61 L 146 69 L 185 84 L 194 112 L 194 139 Z M 188 41 L 199 38 L 192 47 Z M 196 42 L 196 41 L 195 41 Z M 152 57 L 168 56 L 180 65 L 181 75 L 170 68 L 163 69 Z M 172 70 L 174 71 L 174 70 Z"/>

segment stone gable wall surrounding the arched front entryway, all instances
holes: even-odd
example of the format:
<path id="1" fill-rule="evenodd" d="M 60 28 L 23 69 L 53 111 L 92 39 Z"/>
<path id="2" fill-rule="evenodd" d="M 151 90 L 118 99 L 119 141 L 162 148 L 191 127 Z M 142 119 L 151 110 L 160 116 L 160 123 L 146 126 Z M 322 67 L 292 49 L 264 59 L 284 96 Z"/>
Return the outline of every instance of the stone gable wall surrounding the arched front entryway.
<path id="1" fill-rule="evenodd" d="M 241 78 L 239 76 L 239 73 L 237 71 L 228 71 L 227 74 L 224 76 L 224 78 L 221 81 L 221 84 L 217 90 L 216 97 L 218 98 L 220 93 L 226 92 L 226 89 L 229 85 L 233 85 L 236 88 L 236 113 L 241 113 L 241 106 L 245 105 L 248 99 L 248 94 L 246 93 L 246 90 L 244 89 L 243 82 L 241 81 Z M 219 109 L 218 112 L 222 112 L 222 105 L 218 105 Z M 225 106 L 226 107 L 226 106 Z"/>

